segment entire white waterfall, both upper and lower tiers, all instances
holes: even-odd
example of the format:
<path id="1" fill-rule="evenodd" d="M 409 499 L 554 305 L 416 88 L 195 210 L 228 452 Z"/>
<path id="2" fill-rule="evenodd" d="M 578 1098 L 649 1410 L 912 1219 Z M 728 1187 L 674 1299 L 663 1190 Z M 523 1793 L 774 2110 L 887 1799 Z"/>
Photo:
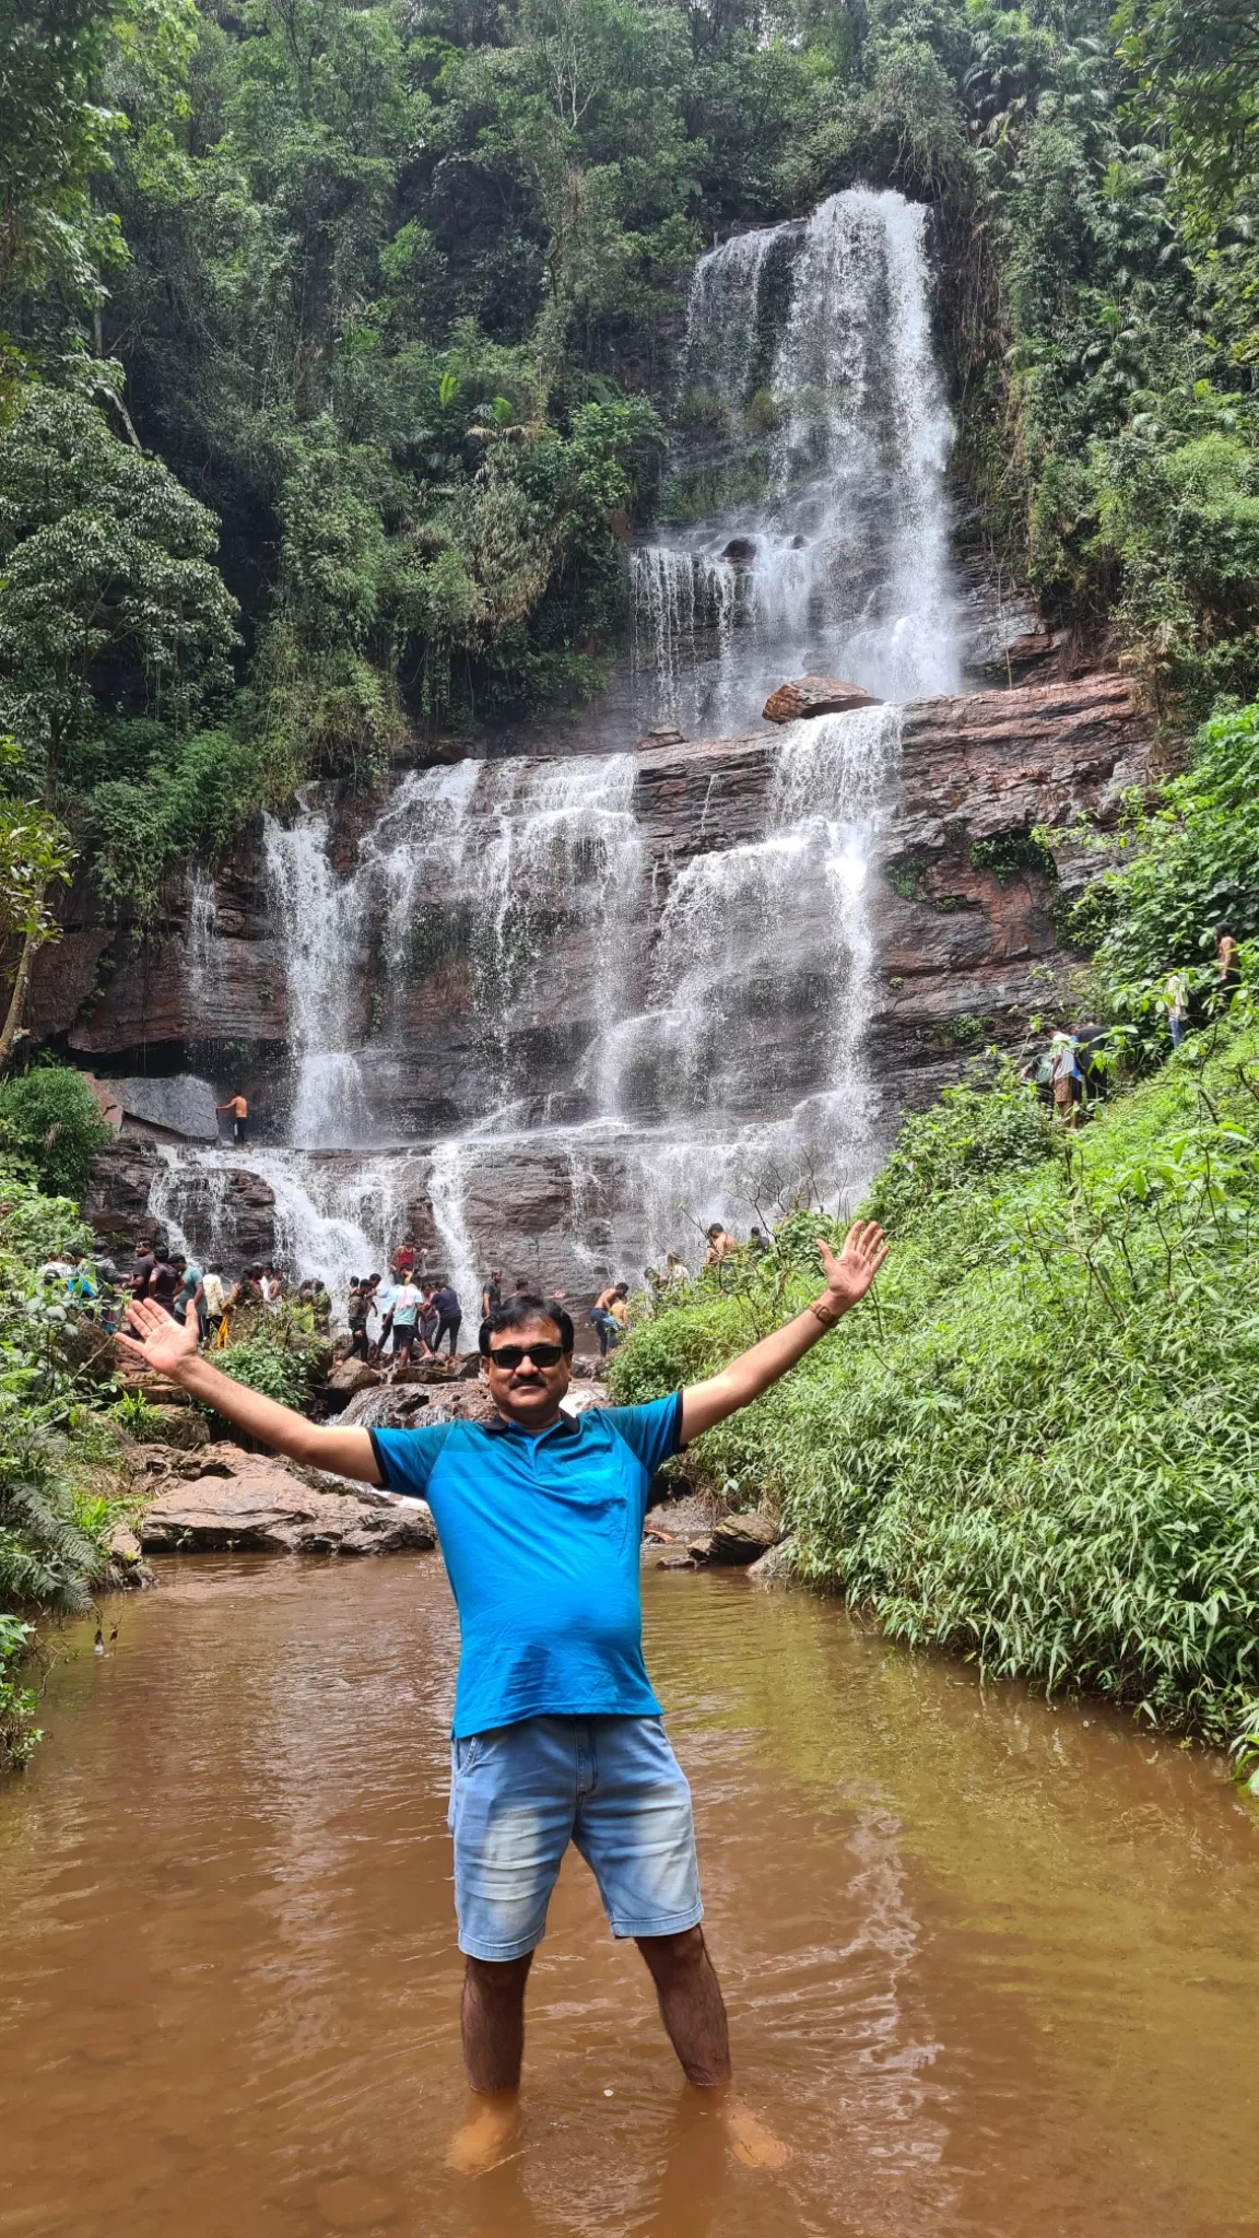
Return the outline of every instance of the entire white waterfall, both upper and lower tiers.
<path id="1" fill-rule="evenodd" d="M 298 1276 L 338 1294 L 412 1224 L 470 1314 L 491 1262 L 582 1294 L 665 1249 L 694 1262 L 710 1220 L 802 1179 L 860 1191 L 896 700 L 957 685 L 925 213 L 854 190 L 703 257 L 683 378 L 728 430 L 757 423 L 766 466 L 634 557 L 643 714 L 746 732 L 806 669 L 887 705 L 766 734 L 737 837 L 715 756 L 677 855 L 630 752 L 412 772 L 356 844 L 314 792 L 269 819 L 291 1146 L 170 1153 L 152 1209 L 177 1235 L 240 1258 L 233 1188 L 258 1175 Z"/>

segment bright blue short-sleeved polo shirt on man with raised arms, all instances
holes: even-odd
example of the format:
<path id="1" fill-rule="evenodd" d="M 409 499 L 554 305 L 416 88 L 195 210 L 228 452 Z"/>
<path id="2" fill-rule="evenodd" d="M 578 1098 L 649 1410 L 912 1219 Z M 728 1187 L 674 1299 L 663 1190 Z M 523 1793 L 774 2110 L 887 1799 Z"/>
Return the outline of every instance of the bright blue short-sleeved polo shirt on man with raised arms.
<path id="1" fill-rule="evenodd" d="M 681 1446 L 681 1392 L 515 1423 L 372 1430 L 381 1482 L 432 1508 L 459 1607 L 455 1737 L 524 1717 L 659 1717 L 643 1667 L 647 1486 Z"/>

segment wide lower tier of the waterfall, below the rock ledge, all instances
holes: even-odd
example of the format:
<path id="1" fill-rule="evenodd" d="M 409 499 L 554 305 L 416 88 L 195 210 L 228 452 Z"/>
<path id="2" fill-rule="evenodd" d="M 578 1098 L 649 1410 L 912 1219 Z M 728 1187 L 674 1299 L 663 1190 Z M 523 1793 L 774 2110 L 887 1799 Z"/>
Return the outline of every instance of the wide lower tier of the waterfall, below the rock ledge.
<path id="1" fill-rule="evenodd" d="M 636 1278 L 670 1249 L 694 1260 L 708 1220 L 771 1213 L 804 1170 L 849 1200 L 878 1139 L 860 1061 L 867 857 L 898 730 L 896 707 L 786 725 L 768 741 L 757 837 L 683 864 L 652 855 L 627 754 L 408 774 L 343 877 L 314 801 L 289 828 L 269 824 L 291 1139 L 166 1146 L 150 1211 L 184 1249 L 231 1251 L 231 1182 L 249 1168 L 273 1195 L 276 1253 L 338 1298 L 352 1273 L 383 1267 L 426 1202 L 441 1271 L 473 1300 L 497 1256 L 470 1202 L 493 1204 L 504 1159 L 562 1168 L 565 1262 L 520 1271 L 573 1291 L 614 1269 Z M 473 1108 L 437 1139 L 390 1139 L 397 1012 L 426 969 L 417 944 L 446 942 L 475 1025 Z M 383 1016 L 356 1038 L 370 978 Z M 782 1083 L 766 1005 L 800 1018 Z M 580 1021 L 582 1045 L 569 1061 L 565 1038 L 547 1068 L 533 1043 L 558 1012 Z"/>

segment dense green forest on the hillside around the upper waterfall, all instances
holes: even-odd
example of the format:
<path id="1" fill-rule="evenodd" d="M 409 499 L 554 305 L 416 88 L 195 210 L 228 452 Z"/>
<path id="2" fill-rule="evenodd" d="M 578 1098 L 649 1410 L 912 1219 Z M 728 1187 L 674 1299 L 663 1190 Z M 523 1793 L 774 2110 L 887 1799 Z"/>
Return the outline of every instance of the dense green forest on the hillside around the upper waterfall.
<path id="1" fill-rule="evenodd" d="M 963 535 L 1252 696 L 1257 78 L 1248 0 L 2 0 L 7 931 L 598 689 L 694 257 L 849 184 L 932 208 Z"/>

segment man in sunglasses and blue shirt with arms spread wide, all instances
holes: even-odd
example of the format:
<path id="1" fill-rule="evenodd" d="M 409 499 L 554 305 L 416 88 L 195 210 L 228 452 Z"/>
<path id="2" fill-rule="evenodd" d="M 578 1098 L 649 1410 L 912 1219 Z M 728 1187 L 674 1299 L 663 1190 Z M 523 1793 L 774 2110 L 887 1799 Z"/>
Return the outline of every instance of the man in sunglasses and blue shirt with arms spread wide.
<path id="1" fill-rule="evenodd" d="M 524 1981 L 560 1860 L 576 1842 L 614 1936 L 632 1936 L 690 2084 L 712 2093 L 744 2162 L 784 2153 L 730 2093 L 721 1990 L 703 1947 L 690 1788 L 647 1683 L 638 1542 L 647 1486 L 670 1455 L 777 1383 L 865 1298 L 887 1244 L 874 1220 L 793 1320 L 719 1374 L 650 1405 L 565 1414 L 573 1325 L 529 1294 L 482 1323 L 491 1423 L 426 1430 L 314 1423 L 233 1383 L 161 1307 L 130 1307 L 128 1354 L 181 1383 L 293 1461 L 399 1495 L 423 1495 L 459 1605 L 450 1743 L 455 1909 L 464 1972 L 464 2061 L 473 2106 L 450 2157 L 491 2166 L 515 2124 Z"/>

